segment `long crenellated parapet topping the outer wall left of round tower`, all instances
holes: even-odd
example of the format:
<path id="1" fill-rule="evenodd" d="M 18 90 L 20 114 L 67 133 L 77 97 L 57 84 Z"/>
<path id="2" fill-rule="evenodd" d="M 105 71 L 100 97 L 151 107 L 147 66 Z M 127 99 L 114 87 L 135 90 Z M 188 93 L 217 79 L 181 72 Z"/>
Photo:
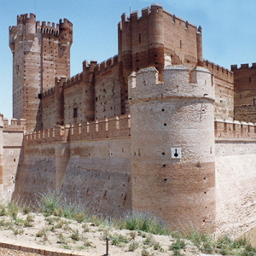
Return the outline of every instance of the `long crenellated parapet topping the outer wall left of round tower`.
<path id="1" fill-rule="evenodd" d="M 125 114 L 111 119 L 95 120 L 74 125 L 55 125 L 55 128 L 26 133 L 24 144 L 55 143 L 131 135 L 131 115 Z"/>

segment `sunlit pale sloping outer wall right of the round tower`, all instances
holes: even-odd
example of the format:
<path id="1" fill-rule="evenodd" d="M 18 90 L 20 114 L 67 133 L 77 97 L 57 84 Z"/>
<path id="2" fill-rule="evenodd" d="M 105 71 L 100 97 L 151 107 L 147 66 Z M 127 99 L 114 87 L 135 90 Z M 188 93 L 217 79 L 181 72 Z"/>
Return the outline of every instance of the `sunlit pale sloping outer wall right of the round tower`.
<path id="1" fill-rule="evenodd" d="M 215 122 L 218 231 L 236 236 L 255 226 L 256 126 Z"/>

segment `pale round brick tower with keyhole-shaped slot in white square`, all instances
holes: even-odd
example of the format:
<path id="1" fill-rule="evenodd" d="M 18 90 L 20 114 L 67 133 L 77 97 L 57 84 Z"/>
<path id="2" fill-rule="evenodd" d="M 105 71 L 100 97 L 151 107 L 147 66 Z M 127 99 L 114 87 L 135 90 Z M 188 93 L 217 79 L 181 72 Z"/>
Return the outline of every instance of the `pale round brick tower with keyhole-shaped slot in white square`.
<path id="1" fill-rule="evenodd" d="M 213 77 L 206 68 L 167 66 L 132 73 L 132 209 L 201 229 L 215 220 Z"/>

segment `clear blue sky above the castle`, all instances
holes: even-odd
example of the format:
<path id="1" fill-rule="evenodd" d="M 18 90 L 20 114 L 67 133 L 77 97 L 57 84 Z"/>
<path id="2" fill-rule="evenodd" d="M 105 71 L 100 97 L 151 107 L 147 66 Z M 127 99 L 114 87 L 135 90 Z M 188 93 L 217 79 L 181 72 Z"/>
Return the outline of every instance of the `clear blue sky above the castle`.
<path id="1" fill-rule="evenodd" d="M 123 13 L 150 6 L 148 0 L 0 0 L 0 113 L 12 118 L 12 53 L 9 26 L 17 15 L 73 23 L 71 76 L 84 60 L 102 62 L 118 54 L 118 23 Z M 220 66 L 256 62 L 255 0 L 161 0 L 164 9 L 202 27 L 203 56 Z"/>

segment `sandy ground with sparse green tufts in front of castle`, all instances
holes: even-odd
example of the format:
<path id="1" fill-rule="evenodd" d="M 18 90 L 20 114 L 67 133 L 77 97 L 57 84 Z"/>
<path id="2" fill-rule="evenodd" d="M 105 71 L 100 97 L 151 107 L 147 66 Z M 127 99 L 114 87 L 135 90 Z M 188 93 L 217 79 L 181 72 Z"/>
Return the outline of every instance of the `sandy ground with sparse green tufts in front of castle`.
<path id="1" fill-rule="evenodd" d="M 115 230 L 109 225 L 79 224 L 77 221 L 66 218 L 44 217 L 43 214 L 31 213 L 30 216 L 32 220 L 29 222 L 26 221 L 27 215 L 21 213 L 16 220 L 6 216 L 0 217 L 0 236 L 27 241 L 31 245 L 39 244 L 100 254 L 106 253 L 108 236 L 110 255 L 173 255 L 169 248 L 174 241 L 172 236 Z M 32 226 L 26 227 L 27 225 Z M 189 256 L 199 252 L 190 244 L 181 253 Z"/>

